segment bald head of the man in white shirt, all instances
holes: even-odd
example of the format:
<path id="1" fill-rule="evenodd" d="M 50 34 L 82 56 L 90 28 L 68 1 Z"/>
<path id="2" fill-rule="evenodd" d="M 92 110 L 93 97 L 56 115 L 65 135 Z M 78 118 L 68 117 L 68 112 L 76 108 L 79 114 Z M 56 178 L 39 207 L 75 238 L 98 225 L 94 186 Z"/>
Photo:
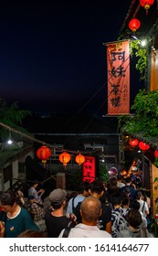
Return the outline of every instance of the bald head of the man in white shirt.
<path id="1" fill-rule="evenodd" d="M 100 218 L 101 204 L 100 199 L 96 197 L 86 197 L 80 206 L 80 215 L 82 223 L 94 226 L 97 224 L 97 220 Z"/>

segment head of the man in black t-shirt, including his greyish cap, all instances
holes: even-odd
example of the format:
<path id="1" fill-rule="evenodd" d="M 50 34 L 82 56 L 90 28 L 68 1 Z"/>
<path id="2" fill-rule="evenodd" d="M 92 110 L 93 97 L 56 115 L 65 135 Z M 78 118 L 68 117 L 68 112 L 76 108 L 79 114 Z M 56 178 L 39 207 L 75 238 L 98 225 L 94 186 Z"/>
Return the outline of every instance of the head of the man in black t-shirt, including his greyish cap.
<path id="1" fill-rule="evenodd" d="M 65 207 L 67 191 L 61 188 L 56 188 L 49 194 L 49 200 L 52 208 L 54 209 Z"/>

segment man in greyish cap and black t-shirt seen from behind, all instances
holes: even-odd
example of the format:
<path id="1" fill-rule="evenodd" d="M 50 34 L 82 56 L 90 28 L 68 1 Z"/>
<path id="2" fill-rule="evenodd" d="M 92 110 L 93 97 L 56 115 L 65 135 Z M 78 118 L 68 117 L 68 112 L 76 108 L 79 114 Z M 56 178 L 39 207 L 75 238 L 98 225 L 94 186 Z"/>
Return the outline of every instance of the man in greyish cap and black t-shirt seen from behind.
<path id="1" fill-rule="evenodd" d="M 68 227 L 70 219 L 64 216 L 64 208 L 67 205 L 67 191 L 61 188 L 54 189 L 49 194 L 51 207 L 47 209 L 45 221 L 47 226 L 47 237 L 58 238 L 62 229 Z M 72 226 L 75 226 L 72 221 Z"/>

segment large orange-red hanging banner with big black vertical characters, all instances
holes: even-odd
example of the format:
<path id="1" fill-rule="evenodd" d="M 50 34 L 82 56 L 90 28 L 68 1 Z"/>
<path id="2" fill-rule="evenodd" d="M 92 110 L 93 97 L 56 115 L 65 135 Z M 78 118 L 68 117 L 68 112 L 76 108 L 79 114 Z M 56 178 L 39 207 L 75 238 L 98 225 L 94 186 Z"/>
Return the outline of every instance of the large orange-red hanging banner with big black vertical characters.
<path id="1" fill-rule="evenodd" d="M 108 115 L 130 113 L 129 41 L 107 44 Z"/>

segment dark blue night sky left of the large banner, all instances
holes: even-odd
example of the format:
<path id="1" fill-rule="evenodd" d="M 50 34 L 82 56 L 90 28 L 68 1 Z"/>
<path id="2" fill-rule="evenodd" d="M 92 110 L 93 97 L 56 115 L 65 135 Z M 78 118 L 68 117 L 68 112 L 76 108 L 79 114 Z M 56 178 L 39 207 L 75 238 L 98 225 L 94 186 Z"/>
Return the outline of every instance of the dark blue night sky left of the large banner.
<path id="1" fill-rule="evenodd" d="M 103 43 L 117 40 L 131 3 L 3 1 L 0 97 L 35 112 L 105 113 Z"/>

